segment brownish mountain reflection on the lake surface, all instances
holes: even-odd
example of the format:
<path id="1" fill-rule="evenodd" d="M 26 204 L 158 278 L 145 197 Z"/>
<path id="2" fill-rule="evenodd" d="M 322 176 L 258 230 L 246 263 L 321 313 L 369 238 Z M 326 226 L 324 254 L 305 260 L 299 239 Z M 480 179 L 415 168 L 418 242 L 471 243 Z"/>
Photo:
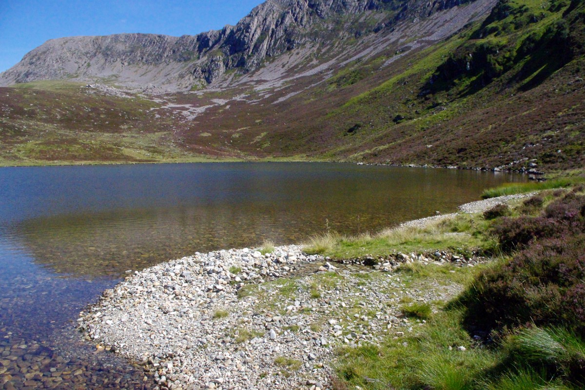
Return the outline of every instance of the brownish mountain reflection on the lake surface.
<path id="1" fill-rule="evenodd" d="M 283 172 L 275 172 L 273 164 L 260 164 L 258 172 L 239 166 L 243 170 L 231 166 L 216 170 L 213 177 L 202 172 L 201 177 L 191 176 L 191 182 L 185 182 L 188 175 L 176 172 L 181 195 L 176 188 L 163 191 L 159 177 L 142 185 L 159 188 L 160 194 L 140 191 L 136 181 L 130 182 L 139 199 L 115 201 L 112 208 L 117 208 L 107 211 L 101 210 L 102 195 L 87 198 L 84 192 L 85 210 L 18 220 L 6 233 L 35 263 L 56 274 L 118 277 L 195 251 L 253 246 L 264 239 L 298 242 L 325 229 L 374 232 L 435 210 L 451 211 L 475 199 L 486 185 L 483 181 L 498 181 L 482 172 L 340 164 L 325 164 L 325 171 L 315 164 L 292 164 L 292 170 L 286 164 Z M 161 180 L 168 183 L 171 178 L 164 175 Z M 168 204 L 169 194 L 173 205 Z M 114 191 L 112 198 L 120 195 Z M 130 206 L 122 208 L 121 203 Z M 135 207 L 145 203 L 150 208 Z"/>

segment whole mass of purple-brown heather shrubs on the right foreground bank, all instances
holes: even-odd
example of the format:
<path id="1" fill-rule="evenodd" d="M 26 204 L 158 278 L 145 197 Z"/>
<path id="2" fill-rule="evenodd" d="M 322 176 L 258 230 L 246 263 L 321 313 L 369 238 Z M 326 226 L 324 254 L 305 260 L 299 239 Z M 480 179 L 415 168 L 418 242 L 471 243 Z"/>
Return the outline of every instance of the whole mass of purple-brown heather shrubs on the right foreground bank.
<path id="1" fill-rule="evenodd" d="M 585 335 L 585 196 L 571 192 L 541 216 L 494 225 L 507 263 L 481 272 L 460 301 L 467 323 L 504 330 L 534 322 Z"/>

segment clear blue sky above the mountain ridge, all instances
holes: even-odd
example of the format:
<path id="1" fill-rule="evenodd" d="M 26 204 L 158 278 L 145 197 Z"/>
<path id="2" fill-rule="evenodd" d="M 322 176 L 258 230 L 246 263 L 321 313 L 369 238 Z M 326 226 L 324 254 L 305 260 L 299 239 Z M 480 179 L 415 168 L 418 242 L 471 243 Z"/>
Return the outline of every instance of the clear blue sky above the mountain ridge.
<path id="1" fill-rule="evenodd" d="M 235 25 L 263 0 L 0 0 L 0 72 L 46 40 L 78 35 L 181 36 Z"/>

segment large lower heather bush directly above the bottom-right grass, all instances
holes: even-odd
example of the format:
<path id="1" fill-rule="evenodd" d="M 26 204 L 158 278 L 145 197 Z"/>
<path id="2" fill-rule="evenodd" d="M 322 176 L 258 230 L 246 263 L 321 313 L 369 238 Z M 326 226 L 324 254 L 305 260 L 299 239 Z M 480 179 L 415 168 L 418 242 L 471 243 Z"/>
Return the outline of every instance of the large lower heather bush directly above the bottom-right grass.
<path id="1" fill-rule="evenodd" d="M 503 329 L 534 321 L 585 334 L 585 234 L 548 239 L 484 271 L 463 295 L 468 322 Z"/>

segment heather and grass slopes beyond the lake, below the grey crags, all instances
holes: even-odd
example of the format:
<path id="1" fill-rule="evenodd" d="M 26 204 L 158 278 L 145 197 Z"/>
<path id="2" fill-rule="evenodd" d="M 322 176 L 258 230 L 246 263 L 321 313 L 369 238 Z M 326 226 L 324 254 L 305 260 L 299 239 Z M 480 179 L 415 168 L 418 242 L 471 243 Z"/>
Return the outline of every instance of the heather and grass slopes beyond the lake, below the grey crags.
<path id="1" fill-rule="evenodd" d="M 444 42 L 404 37 L 326 81 L 308 75 L 164 102 L 69 82 L 0 88 L 0 164 L 285 158 L 579 168 L 584 22 L 581 1 L 503 0 Z M 188 116 L 188 107 L 204 109 Z"/>

